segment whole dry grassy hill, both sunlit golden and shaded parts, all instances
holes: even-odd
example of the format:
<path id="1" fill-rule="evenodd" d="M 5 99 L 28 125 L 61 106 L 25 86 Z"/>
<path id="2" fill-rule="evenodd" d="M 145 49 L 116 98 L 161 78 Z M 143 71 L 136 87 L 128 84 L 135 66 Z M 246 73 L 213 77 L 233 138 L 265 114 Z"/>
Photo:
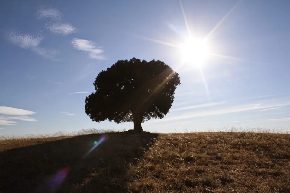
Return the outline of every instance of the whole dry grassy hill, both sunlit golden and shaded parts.
<path id="1" fill-rule="evenodd" d="M 290 135 L 109 132 L 3 139 L 0 171 L 1 193 L 290 192 Z"/>

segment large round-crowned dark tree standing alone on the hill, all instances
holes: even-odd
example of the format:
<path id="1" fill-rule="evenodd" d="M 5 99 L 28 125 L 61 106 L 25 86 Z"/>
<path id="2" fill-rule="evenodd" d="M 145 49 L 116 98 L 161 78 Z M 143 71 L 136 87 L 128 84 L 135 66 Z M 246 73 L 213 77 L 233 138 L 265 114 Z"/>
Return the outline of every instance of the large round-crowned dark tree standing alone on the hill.
<path id="1" fill-rule="evenodd" d="M 142 122 L 166 116 L 179 85 L 179 74 L 160 60 L 118 60 L 96 77 L 85 112 L 96 122 L 133 121 L 133 130 L 143 131 Z"/>

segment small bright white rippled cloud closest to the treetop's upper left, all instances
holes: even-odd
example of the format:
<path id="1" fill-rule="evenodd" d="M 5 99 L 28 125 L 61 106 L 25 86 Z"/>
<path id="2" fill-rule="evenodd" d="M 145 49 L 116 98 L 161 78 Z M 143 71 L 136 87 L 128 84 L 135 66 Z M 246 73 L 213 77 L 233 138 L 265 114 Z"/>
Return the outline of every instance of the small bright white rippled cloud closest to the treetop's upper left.
<path id="1" fill-rule="evenodd" d="M 100 46 L 95 45 L 93 41 L 74 38 L 71 44 L 74 49 L 88 52 L 89 58 L 98 60 L 105 59 L 104 55 L 102 55 L 104 50 Z"/>

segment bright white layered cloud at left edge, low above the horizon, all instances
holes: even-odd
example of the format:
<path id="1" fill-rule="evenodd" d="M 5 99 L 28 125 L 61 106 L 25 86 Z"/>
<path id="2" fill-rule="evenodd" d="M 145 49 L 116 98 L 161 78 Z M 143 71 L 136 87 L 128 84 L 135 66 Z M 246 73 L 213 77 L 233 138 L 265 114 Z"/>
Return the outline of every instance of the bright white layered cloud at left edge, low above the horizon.
<path id="1" fill-rule="evenodd" d="M 28 111 L 24 109 L 17 109 L 13 107 L 0 106 L 0 125 L 15 125 L 18 122 L 11 120 L 21 121 L 37 121 L 36 119 L 27 115 L 33 115 L 36 112 Z"/>

